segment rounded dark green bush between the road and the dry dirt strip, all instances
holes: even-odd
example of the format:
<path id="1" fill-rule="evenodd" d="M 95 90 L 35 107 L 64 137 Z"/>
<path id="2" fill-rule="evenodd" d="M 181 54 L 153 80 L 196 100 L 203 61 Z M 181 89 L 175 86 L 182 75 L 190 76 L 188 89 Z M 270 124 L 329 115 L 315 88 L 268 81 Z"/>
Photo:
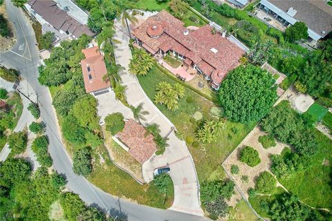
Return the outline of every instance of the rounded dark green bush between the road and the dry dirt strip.
<path id="1" fill-rule="evenodd" d="M 88 176 L 92 172 L 91 148 L 84 147 L 75 151 L 73 156 L 73 171 L 77 175 Z"/>

